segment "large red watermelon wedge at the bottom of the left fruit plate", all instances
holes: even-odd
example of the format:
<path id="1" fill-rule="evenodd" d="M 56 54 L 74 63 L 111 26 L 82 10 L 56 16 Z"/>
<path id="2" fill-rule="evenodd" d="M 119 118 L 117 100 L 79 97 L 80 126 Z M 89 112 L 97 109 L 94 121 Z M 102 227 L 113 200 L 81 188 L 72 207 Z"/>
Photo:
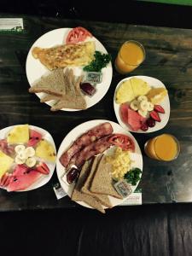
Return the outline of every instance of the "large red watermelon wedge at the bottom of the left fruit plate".
<path id="1" fill-rule="evenodd" d="M 7 190 L 17 191 L 27 189 L 32 183 L 35 183 L 42 174 L 33 170 L 32 168 L 28 168 L 24 165 L 18 165 L 15 167 L 15 171 L 10 179 L 9 185 L 7 186 Z"/>

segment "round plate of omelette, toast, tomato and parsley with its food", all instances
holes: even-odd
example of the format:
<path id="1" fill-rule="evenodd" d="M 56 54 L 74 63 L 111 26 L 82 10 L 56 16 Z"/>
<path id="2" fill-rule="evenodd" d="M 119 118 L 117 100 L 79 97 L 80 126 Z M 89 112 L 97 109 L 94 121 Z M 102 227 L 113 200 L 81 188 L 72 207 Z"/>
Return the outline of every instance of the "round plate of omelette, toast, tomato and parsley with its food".
<path id="1" fill-rule="evenodd" d="M 79 111 L 99 102 L 112 79 L 111 55 L 84 27 L 59 28 L 32 44 L 26 77 L 51 111 Z"/>

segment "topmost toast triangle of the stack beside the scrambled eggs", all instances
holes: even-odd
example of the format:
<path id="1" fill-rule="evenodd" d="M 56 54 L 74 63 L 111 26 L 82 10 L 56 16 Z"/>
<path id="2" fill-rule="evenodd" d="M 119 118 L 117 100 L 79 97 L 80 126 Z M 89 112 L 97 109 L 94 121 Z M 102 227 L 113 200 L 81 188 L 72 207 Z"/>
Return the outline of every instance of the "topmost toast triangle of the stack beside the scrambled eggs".
<path id="1" fill-rule="evenodd" d="M 102 157 L 95 176 L 90 185 L 90 191 L 96 194 L 111 195 L 122 199 L 122 196 L 113 188 L 113 179 L 111 177 L 112 166 L 107 163 L 105 157 Z"/>

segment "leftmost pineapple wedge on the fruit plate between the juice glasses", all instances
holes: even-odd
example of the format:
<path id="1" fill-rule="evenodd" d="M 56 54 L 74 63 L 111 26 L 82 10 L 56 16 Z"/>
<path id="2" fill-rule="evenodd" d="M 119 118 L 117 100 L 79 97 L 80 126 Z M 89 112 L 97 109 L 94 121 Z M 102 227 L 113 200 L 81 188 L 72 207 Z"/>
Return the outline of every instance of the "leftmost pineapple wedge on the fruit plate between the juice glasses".
<path id="1" fill-rule="evenodd" d="M 131 102 L 134 99 L 135 96 L 133 94 L 130 80 L 127 80 L 120 84 L 119 89 L 116 93 L 116 102 L 118 104 L 121 104 L 124 102 Z"/>

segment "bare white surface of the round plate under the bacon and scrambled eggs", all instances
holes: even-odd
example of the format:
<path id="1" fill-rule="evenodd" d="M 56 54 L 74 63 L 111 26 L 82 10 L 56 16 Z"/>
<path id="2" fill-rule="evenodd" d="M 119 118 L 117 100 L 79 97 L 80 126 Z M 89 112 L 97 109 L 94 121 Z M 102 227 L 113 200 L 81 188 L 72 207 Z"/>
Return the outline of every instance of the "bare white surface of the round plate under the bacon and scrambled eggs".
<path id="1" fill-rule="evenodd" d="M 131 133 L 129 131 L 125 131 L 125 129 L 123 129 L 119 124 L 114 123 L 112 121 L 108 121 L 108 120 L 104 120 L 104 119 L 96 119 L 96 120 L 91 120 L 88 122 L 85 122 L 81 125 L 78 125 L 77 127 L 75 127 L 72 131 L 70 131 L 67 136 L 63 139 L 61 146 L 58 150 L 58 154 L 57 154 L 57 160 L 56 160 L 56 172 L 57 172 L 57 176 L 59 178 L 59 181 L 61 183 L 61 187 L 66 191 L 67 195 L 69 197 L 71 197 L 72 192 L 73 192 L 73 185 L 68 185 L 67 183 L 63 182 L 63 180 L 61 179 L 61 177 L 63 176 L 63 174 L 66 172 L 66 168 L 63 167 L 61 165 L 60 162 L 60 157 L 61 154 L 67 150 L 67 148 L 69 148 L 73 142 L 79 137 L 81 136 L 84 132 L 89 131 L 91 128 L 95 127 L 96 125 L 100 125 L 102 123 L 105 122 L 109 122 L 112 126 L 113 126 L 113 132 L 115 133 L 122 133 L 125 135 L 128 135 L 129 137 L 132 138 L 133 142 L 135 143 L 135 153 L 131 153 L 131 160 L 134 161 L 134 165 L 135 167 L 140 168 L 143 171 L 143 156 L 141 153 L 141 150 L 138 146 L 138 143 L 136 141 L 136 139 L 131 135 Z M 138 185 L 139 182 L 137 182 Z M 135 191 L 135 189 L 137 188 L 136 186 L 131 186 L 132 192 Z M 112 196 L 109 196 L 109 199 L 112 203 L 112 206 L 117 206 L 120 203 L 122 203 L 123 201 L 125 201 L 125 199 L 116 199 Z M 83 201 L 78 201 L 78 203 L 84 207 L 89 207 L 91 208 L 89 205 L 87 205 L 86 203 L 84 203 Z"/>

